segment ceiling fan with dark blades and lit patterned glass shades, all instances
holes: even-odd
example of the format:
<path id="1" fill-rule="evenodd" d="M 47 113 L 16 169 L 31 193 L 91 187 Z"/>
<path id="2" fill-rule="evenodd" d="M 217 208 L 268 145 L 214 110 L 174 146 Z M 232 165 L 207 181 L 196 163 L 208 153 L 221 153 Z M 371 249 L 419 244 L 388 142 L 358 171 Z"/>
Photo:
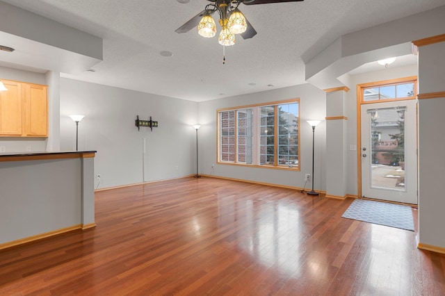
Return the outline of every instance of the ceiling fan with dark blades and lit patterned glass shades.
<path id="1" fill-rule="evenodd" d="M 216 24 L 211 15 L 218 12 L 222 31 L 218 36 L 218 42 L 224 47 L 235 44 L 235 34 L 240 34 L 243 39 L 252 38 L 257 31 L 238 9 L 238 6 L 256 5 L 265 3 L 296 2 L 304 0 L 207 0 L 211 3 L 200 13 L 192 17 L 188 22 L 175 30 L 177 33 L 186 33 L 197 26 L 198 33 L 205 38 L 216 35 Z"/>

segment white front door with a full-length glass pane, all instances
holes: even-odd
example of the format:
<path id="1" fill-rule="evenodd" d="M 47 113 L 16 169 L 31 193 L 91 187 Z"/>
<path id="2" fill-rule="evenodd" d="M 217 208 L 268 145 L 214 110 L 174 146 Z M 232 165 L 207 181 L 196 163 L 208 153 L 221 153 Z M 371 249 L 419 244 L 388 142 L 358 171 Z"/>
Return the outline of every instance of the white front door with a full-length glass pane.
<path id="1" fill-rule="evenodd" d="M 362 197 L 417 204 L 416 101 L 361 108 Z"/>

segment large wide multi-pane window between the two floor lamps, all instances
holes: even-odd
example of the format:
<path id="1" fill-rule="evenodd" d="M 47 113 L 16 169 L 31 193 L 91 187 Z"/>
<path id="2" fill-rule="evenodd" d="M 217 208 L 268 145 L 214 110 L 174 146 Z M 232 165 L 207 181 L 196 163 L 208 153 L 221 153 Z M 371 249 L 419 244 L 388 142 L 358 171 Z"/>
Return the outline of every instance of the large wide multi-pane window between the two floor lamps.
<path id="1" fill-rule="evenodd" d="M 299 170 L 299 103 L 218 110 L 218 163 Z"/>

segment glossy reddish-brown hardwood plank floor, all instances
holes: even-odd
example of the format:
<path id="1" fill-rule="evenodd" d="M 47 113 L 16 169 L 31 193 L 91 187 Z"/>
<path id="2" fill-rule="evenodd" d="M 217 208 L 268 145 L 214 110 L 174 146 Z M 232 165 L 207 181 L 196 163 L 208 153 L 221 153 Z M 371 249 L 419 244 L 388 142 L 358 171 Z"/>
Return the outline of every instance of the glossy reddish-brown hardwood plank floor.
<path id="1" fill-rule="evenodd" d="M 95 229 L 0 251 L 0 295 L 445 295 L 445 255 L 351 202 L 211 178 L 96 192 Z"/>

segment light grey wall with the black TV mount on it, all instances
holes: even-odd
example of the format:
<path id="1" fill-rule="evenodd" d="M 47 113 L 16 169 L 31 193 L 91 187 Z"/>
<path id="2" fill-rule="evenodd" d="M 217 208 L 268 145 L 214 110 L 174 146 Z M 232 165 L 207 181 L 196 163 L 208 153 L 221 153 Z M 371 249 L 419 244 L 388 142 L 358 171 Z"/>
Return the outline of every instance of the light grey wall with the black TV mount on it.
<path id="1" fill-rule="evenodd" d="M 197 103 L 105 85 L 60 79 L 60 149 L 76 149 L 76 125 L 68 117 L 81 114 L 79 151 L 96 150 L 95 188 L 193 174 Z M 150 131 L 140 120 L 159 122 Z M 144 151 L 145 139 L 145 151 Z M 144 153 L 145 152 L 145 153 Z"/>

